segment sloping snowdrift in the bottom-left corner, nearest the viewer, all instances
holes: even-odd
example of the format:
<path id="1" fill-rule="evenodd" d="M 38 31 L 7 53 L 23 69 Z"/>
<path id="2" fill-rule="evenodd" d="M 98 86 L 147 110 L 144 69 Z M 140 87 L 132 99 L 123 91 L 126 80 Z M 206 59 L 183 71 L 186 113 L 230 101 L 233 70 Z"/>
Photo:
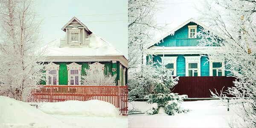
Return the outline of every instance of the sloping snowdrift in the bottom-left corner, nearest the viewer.
<path id="1" fill-rule="evenodd" d="M 65 126 L 58 119 L 43 113 L 26 102 L 0 96 L 0 128 L 28 127 L 64 128 Z"/>

